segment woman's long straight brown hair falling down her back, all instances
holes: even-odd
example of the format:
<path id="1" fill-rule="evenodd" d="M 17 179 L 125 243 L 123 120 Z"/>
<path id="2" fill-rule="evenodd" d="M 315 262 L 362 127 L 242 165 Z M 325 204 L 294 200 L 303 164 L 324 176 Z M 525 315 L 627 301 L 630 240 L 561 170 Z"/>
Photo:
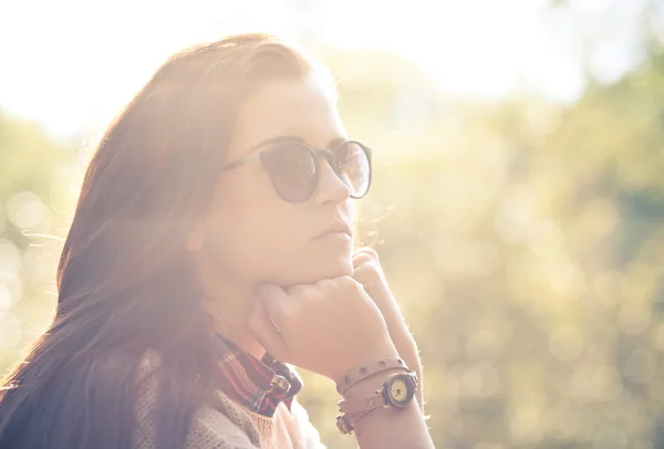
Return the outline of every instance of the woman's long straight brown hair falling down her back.
<path id="1" fill-rule="evenodd" d="M 229 36 L 169 58 L 113 121 L 64 243 L 55 319 L 3 382 L 1 449 L 131 447 L 147 349 L 160 358 L 156 447 L 183 447 L 215 365 L 185 239 L 209 208 L 239 103 L 312 71 L 272 36 Z"/>

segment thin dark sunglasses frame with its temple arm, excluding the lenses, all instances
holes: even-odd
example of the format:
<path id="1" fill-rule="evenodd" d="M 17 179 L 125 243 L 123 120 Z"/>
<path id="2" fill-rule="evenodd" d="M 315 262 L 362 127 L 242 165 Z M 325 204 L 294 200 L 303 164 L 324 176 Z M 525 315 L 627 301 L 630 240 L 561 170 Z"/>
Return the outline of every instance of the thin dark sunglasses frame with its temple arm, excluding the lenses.
<path id="1" fill-rule="evenodd" d="M 319 168 L 319 164 L 320 164 L 320 159 L 324 158 L 328 164 L 330 164 L 330 167 L 332 167 L 332 171 L 334 171 L 334 174 L 339 176 L 339 174 L 336 173 L 336 170 L 334 169 L 334 156 L 335 156 L 335 152 L 341 148 L 343 145 L 347 145 L 347 144 L 356 144 L 360 148 L 362 148 L 362 150 L 364 152 L 364 154 L 366 155 L 366 160 L 369 164 L 369 180 L 366 184 L 366 190 L 364 191 L 364 194 L 362 194 L 361 196 L 356 196 L 356 195 L 352 195 L 351 194 L 351 198 L 353 199 L 361 199 L 364 198 L 366 196 L 366 194 L 369 192 L 369 189 L 371 188 L 371 180 L 372 180 L 372 175 L 373 175 L 373 167 L 371 164 L 371 158 L 372 158 L 372 149 L 370 147 L 367 147 L 366 145 L 364 145 L 363 143 L 359 142 L 359 140 L 343 140 L 341 142 L 339 145 L 336 145 L 334 148 L 329 149 L 329 148 L 322 148 L 322 149 L 313 149 L 311 148 L 309 145 L 302 143 L 302 142 L 287 142 L 283 144 L 279 144 L 277 146 L 273 146 L 271 148 L 267 148 L 263 149 L 261 152 L 258 153 L 252 153 L 250 155 L 247 156 L 242 156 L 237 160 L 234 160 L 232 163 L 228 163 L 226 164 L 224 167 L 221 167 L 221 173 L 224 171 L 229 171 L 229 170 L 235 170 L 236 168 L 242 167 L 247 164 L 251 164 L 255 161 L 259 161 L 262 164 L 262 159 L 261 159 L 261 155 L 262 154 L 267 154 L 267 153 L 272 153 L 272 152 L 278 152 L 280 148 L 282 148 L 284 145 L 298 145 L 301 146 L 303 149 L 307 149 L 309 152 L 309 154 L 311 155 L 311 158 L 313 159 L 313 164 L 314 164 L 314 178 L 312 179 L 312 185 L 313 188 L 311 189 L 311 192 L 309 192 L 309 195 L 301 200 L 290 200 L 288 198 L 284 198 L 280 191 L 279 188 L 277 186 L 274 186 L 274 181 L 272 180 L 272 176 L 270 175 L 270 182 L 272 182 L 272 187 L 274 188 L 274 190 L 277 191 L 277 194 L 284 200 L 288 202 L 303 202 L 307 201 L 309 198 L 311 198 L 311 196 L 315 192 L 315 189 L 318 188 L 319 181 L 320 181 L 320 168 Z M 340 177 L 341 179 L 341 177 Z M 342 180 L 343 182 L 343 180 Z M 344 182 L 345 184 L 345 182 Z"/>

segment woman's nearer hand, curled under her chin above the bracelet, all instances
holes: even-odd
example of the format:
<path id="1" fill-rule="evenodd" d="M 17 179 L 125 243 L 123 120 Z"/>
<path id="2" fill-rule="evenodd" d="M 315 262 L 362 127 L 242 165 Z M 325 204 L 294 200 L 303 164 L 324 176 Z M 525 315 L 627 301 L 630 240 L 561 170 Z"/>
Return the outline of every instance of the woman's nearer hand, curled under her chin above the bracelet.
<path id="1" fill-rule="evenodd" d="M 247 328 L 273 357 L 336 380 L 381 357 L 398 357 L 381 311 L 340 276 L 286 291 L 261 285 Z"/>

